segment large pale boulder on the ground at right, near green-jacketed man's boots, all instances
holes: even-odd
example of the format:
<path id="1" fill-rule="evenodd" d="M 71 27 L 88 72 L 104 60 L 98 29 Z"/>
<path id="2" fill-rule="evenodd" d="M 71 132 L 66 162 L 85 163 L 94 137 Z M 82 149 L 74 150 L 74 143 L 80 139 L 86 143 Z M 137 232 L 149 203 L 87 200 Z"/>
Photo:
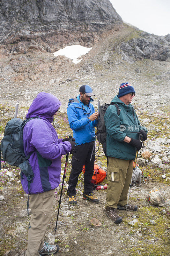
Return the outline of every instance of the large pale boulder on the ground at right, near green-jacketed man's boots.
<path id="1" fill-rule="evenodd" d="M 166 201 L 159 192 L 158 188 L 152 188 L 152 190 L 149 192 L 148 197 L 150 203 L 156 206 L 165 206 L 166 204 Z"/>

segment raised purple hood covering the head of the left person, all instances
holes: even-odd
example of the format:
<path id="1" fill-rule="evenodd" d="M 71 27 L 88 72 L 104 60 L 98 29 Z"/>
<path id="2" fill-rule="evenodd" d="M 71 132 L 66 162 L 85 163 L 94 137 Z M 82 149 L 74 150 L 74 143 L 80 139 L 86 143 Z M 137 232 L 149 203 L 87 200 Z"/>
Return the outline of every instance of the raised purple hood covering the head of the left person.
<path id="1" fill-rule="evenodd" d="M 40 92 L 29 107 L 26 119 L 34 116 L 40 116 L 52 123 L 53 116 L 60 105 L 61 102 L 53 94 Z"/>

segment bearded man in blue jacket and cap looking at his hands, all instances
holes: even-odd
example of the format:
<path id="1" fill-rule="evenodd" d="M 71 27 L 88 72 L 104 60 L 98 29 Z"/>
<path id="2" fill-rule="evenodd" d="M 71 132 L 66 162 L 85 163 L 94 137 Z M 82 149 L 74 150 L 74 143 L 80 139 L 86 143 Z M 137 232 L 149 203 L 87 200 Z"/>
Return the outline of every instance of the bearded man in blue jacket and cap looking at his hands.
<path id="1" fill-rule="evenodd" d="M 69 177 L 69 188 L 67 194 L 70 204 L 77 204 L 76 185 L 78 176 L 82 172 L 85 164 L 84 174 L 84 193 L 83 199 L 90 200 L 93 203 L 99 203 L 99 198 L 92 191 L 91 183 L 95 154 L 92 155 L 95 132 L 94 127 L 97 126 L 99 114 L 95 112 L 91 103 L 94 95 L 89 85 L 82 85 L 79 89 L 80 94 L 75 99 L 70 99 L 67 108 L 67 116 L 70 128 L 73 130 L 73 137 L 77 146 L 73 150 L 71 165 L 72 169 Z M 95 148 L 95 147 L 94 147 Z M 92 155 L 92 160 L 90 161 Z"/>

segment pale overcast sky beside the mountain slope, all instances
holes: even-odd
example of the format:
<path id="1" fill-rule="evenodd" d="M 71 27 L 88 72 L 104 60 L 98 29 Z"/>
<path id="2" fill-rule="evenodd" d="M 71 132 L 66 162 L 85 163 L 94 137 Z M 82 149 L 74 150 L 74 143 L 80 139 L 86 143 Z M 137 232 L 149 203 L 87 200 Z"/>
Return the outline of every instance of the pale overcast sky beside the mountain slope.
<path id="1" fill-rule="evenodd" d="M 110 0 L 116 12 L 135 27 L 159 36 L 170 33 L 169 0 Z"/>

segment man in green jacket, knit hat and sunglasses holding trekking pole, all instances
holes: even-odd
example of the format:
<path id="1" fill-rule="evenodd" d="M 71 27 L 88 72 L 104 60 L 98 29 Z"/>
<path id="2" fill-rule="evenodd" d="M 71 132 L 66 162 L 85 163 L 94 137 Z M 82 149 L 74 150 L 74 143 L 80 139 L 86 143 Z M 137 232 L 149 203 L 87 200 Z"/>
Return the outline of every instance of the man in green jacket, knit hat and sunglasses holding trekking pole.
<path id="1" fill-rule="evenodd" d="M 140 125 L 133 106 L 130 104 L 135 90 L 129 83 L 122 83 L 118 95 L 111 103 L 120 108 L 118 116 L 115 105 L 107 108 L 104 116 L 107 131 L 107 196 L 104 210 L 110 220 L 122 221 L 116 209 L 126 209 L 127 194 L 133 172 L 136 151 L 142 147 L 138 134 L 147 139 L 147 130 Z M 127 205 L 127 210 L 137 211 L 137 205 Z"/>

